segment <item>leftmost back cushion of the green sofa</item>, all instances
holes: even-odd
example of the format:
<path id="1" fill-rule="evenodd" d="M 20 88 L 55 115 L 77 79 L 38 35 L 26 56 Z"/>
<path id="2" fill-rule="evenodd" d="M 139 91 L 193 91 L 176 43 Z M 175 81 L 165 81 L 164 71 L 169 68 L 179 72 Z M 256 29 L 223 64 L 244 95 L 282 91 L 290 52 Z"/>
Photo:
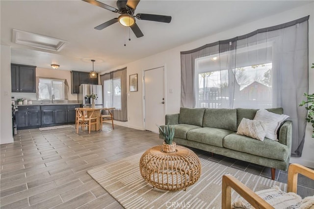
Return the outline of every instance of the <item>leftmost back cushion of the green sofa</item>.
<path id="1" fill-rule="evenodd" d="M 181 107 L 179 124 L 202 126 L 205 108 Z"/>

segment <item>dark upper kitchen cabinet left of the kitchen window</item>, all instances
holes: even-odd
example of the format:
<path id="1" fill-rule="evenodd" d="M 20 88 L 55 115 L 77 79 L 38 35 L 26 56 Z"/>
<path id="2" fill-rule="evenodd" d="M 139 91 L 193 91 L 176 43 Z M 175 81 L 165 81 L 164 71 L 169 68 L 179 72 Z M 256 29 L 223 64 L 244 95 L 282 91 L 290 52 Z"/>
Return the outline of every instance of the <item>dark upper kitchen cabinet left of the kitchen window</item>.
<path id="1" fill-rule="evenodd" d="M 36 93 L 36 66 L 11 64 L 12 92 Z"/>

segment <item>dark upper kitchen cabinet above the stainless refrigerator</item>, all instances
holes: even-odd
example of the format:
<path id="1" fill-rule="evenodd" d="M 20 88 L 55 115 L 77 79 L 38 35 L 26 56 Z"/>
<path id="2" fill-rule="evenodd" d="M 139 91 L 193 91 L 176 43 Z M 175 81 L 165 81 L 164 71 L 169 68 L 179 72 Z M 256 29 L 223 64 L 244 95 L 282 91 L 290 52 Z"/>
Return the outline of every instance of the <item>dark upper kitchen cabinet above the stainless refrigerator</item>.
<path id="1" fill-rule="evenodd" d="M 80 84 L 98 84 L 98 74 L 97 78 L 90 78 L 89 73 L 80 71 L 71 71 L 71 93 L 79 93 Z"/>

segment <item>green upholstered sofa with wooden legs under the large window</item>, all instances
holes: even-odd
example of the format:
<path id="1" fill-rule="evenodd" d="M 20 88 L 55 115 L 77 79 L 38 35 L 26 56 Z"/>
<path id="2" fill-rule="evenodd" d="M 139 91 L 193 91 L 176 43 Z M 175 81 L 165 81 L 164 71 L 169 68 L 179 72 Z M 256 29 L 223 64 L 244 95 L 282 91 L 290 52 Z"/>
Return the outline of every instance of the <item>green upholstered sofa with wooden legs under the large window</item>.
<path id="1" fill-rule="evenodd" d="M 279 141 L 263 141 L 236 134 L 242 118 L 254 119 L 258 109 L 210 109 L 181 107 L 178 114 L 167 114 L 166 124 L 174 125 L 174 141 L 183 146 L 287 171 L 291 150 L 292 122 L 285 121 L 277 132 Z M 283 114 L 283 108 L 267 109 Z M 159 134 L 159 138 L 163 138 Z"/>

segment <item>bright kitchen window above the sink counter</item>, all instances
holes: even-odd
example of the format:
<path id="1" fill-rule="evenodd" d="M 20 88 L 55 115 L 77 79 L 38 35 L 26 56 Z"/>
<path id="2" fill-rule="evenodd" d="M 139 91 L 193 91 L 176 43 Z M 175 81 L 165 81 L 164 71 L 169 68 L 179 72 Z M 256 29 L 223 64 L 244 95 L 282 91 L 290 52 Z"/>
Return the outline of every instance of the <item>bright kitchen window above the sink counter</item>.
<path id="1" fill-rule="evenodd" d="M 38 100 L 64 100 L 65 82 L 63 79 L 38 78 Z"/>

